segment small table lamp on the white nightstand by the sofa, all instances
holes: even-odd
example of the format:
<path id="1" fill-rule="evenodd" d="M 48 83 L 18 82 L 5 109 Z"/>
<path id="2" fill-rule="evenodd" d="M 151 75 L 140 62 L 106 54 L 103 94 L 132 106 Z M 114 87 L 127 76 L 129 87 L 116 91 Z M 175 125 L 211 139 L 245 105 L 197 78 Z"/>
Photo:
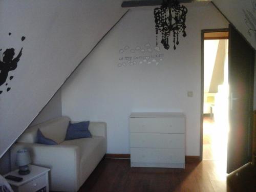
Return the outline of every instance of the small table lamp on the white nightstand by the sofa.
<path id="1" fill-rule="evenodd" d="M 16 165 L 19 167 L 19 175 L 27 175 L 30 173 L 29 166 L 31 158 L 29 151 L 27 149 L 22 149 L 17 151 L 16 155 Z"/>

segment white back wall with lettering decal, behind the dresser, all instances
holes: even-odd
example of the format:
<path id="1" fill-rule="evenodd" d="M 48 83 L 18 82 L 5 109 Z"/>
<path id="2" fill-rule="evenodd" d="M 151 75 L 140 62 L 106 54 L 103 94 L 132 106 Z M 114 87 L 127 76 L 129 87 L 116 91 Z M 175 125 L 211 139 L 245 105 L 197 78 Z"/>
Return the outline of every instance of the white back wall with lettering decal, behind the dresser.
<path id="1" fill-rule="evenodd" d="M 199 155 L 201 30 L 227 28 L 228 23 L 211 3 L 185 6 L 187 37 L 180 37 L 176 51 L 173 45 L 154 49 L 154 8 L 133 8 L 62 87 L 62 115 L 108 124 L 108 153 L 130 153 L 131 112 L 179 111 L 186 115 L 186 155 Z M 147 43 L 152 52 L 141 51 Z M 130 49 L 119 53 L 125 46 Z M 155 54 L 162 54 L 162 61 L 119 60 Z M 193 91 L 193 97 L 187 97 L 187 91 Z"/>

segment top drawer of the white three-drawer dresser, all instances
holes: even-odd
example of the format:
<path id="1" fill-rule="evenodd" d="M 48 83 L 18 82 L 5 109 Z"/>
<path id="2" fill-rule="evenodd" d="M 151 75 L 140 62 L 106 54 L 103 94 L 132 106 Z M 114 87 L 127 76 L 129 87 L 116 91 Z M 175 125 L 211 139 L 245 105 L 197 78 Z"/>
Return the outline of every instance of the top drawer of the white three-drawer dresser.
<path id="1" fill-rule="evenodd" d="M 184 118 L 130 118 L 131 133 L 185 133 Z"/>

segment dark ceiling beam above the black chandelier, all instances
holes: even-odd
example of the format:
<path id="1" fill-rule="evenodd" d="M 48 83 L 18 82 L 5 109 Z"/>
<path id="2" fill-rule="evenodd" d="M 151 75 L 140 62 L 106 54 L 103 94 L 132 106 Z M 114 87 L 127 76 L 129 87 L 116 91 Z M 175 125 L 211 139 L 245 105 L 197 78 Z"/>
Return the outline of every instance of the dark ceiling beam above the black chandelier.
<path id="1" fill-rule="evenodd" d="M 180 0 L 180 3 L 191 2 L 210 2 L 211 0 Z M 137 0 L 137 1 L 124 1 L 121 7 L 142 7 L 142 6 L 157 6 L 162 5 L 162 0 Z"/>

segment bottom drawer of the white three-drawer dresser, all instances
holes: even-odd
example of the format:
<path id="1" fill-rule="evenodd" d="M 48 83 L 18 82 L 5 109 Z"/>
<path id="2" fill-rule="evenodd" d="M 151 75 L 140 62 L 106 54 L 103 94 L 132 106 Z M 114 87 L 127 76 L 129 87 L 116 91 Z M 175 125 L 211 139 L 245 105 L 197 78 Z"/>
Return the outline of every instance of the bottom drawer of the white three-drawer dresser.
<path id="1" fill-rule="evenodd" d="M 185 163 L 185 149 L 131 148 L 131 163 Z"/>

